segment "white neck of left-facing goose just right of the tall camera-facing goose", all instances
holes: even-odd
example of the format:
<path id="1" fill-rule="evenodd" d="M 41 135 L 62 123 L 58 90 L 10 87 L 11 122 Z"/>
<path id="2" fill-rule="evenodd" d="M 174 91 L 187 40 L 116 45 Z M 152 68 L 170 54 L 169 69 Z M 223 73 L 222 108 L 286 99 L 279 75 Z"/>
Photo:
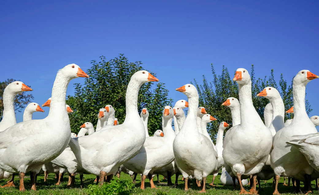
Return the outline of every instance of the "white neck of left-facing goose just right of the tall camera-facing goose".
<path id="1" fill-rule="evenodd" d="M 285 105 L 280 95 L 269 98 L 272 106 L 272 121 L 269 126 L 272 136 L 285 127 Z M 275 132 L 273 132 L 275 130 Z"/>

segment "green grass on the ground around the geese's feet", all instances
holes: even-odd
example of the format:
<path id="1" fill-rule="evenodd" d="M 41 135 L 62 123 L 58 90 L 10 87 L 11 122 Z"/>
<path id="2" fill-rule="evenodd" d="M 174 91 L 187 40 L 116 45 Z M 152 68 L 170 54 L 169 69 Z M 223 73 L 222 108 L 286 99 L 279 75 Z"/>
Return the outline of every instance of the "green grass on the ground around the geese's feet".
<path id="1" fill-rule="evenodd" d="M 68 176 L 65 174 L 64 176 L 64 182 L 61 185 L 55 185 L 56 180 L 54 178 L 54 174 L 49 174 L 47 182 L 43 182 L 43 174 L 38 176 L 37 179 L 37 191 L 30 191 L 30 178 L 28 177 L 29 175 L 26 176 L 25 178 L 25 187 L 26 187 L 26 192 L 19 192 L 19 177 L 15 178 L 15 185 L 16 187 L 10 187 L 10 188 L 1 188 L 0 189 L 0 195 L 2 194 L 43 194 L 43 195 L 58 195 L 58 194 L 66 194 L 66 195 L 81 195 L 81 194 L 87 194 L 85 193 L 85 188 L 87 188 L 88 185 L 93 184 L 94 179 L 96 178 L 93 175 L 84 175 L 83 179 L 83 189 L 80 186 L 80 178 L 79 175 L 76 175 L 76 181 L 75 185 L 76 188 L 74 189 L 68 189 L 67 188 L 67 181 L 68 181 Z M 223 186 L 220 184 L 219 181 L 220 175 L 218 175 L 215 179 L 214 184 L 217 185 L 216 187 L 209 186 L 208 184 L 211 182 L 212 176 L 210 175 L 207 177 L 207 182 L 206 182 L 206 194 L 239 194 L 238 190 L 234 190 L 232 186 Z M 116 179 L 115 177 L 113 179 Z M 131 178 L 129 175 L 122 173 L 121 174 L 121 179 L 126 179 L 130 180 Z M 135 187 L 136 189 L 133 191 L 132 194 L 148 194 L 148 195 L 168 195 L 168 194 L 197 194 L 198 191 L 200 191 L 200 188 L 197 187 L 195 182 L 190 181 L 190 187 L 189 191 L 184 191 L 184 181 L 182 181 L 182 176 L 179 177 L 178 180 L 178 187 L 169 187 L 167 186 L 167 180 L 163 180 L 163 176 L 159 176 L 159 180 L 161 181 L 161 184 L 158 184 L 157 178 L 154 177 L 154 183 L 156 187 L 159 189 L 151 189 L 149 180 L 146 179 L 145 183 L 145 190 L 139 189 L 140 184 L 141 184 L 141 177 L 140 175 L 137 176 L 136 179 L 136 184 Z M 7 180 L 1 180 L 0 185 L 5 185 Z M 172 177 L 172 181 L 175 181 L 175 176 Z M 106 184 L 107 185 L 107 184 Z M 258 189 L 258 193 L 260 195 L 266 195 L 266 194 L 272 194 L 273 188 L 271 187 L 272 185 L 272 179 L 268 180 L 267 183 L 264 183 L 263 181 L 261 182 L 261 190 Z M 292 186 L 289 188 L 288 186 L 283 186 L 283 178 L 280 179 L 279 181 L 279 193 L 283 195 L 288 195 L 288 194 L 296 194 L 294 192 Z M 312 194 L 319 194 L 317 190 L 315 190 L 315 181 L 312 181 L 312 187 L 314 189 L 314 192 Z M 246 190 L 249 190 L 249 186 L 245 186 Z M 300 189 L 303 189 L 303 185 L 301 183 Z"/>

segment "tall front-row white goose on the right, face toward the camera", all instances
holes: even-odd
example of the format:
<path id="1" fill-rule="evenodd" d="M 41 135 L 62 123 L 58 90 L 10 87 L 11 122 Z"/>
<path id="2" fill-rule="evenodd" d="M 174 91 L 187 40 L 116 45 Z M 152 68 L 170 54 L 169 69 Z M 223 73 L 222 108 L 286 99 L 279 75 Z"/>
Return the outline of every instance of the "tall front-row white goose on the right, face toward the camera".
<path id="1" fill-rule="evenodd" d="M 251 97 L 251 80 L 248 71 L 238 68 L 233 81 L 239 87 L 241 124 L 226 134 L 223 143 L 223 157 L 233 173 L 237 175 L 240 194 L 256 194 L 257 173 L 266 163 L 272 145 L 270 130 L 256 112 Z M 241 148 L 242 150 L 238 150 Z M 241 184 L 241 175 L 252 175 L 253 185 L 247 192 Z"/>

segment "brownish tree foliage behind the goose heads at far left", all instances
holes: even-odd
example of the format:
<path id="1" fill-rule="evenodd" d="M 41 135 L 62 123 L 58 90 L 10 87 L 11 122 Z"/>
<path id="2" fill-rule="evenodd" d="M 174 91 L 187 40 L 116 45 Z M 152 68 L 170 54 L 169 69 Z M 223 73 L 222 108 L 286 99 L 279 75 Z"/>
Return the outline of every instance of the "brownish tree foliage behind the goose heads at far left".
<path id="1" fill-rule="evenodd" d="M 3 117 L 3 110 L 4 110 L 4 106 L 3 106 L 3 93 L 4 93 L 4 89 L 5 87 L 7 87 L 8 84 L 17 81 L 14 79 L 7 79 L 3 82 L 0 82 L 0 121 L 2 120 Z M 29 86 L 30 87 L 30 86 Z M 14 99 L 14 110 L 21 112 L 23 108 L 26 107 L 26 105 L 28 103 L 31 102 L 31 100 L 33 100 L 33 95 L 28 93 L 20 93 L 18 95 L 16 95 L 15 99 Z"/>

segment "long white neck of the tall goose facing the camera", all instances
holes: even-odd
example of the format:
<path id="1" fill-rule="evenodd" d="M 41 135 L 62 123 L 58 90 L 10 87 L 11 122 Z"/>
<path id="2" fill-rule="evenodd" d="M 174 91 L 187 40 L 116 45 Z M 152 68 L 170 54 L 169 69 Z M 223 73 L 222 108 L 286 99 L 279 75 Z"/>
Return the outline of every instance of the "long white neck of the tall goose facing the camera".
<path id="1" fill-rule="evenodd" d="M 251 80 L 246 85 L 238 84 L 241 126 L 248 127 L 253 121 L 254 123 L 263 123 L 257 111 L 254 108 L 251 97 Z"/>

